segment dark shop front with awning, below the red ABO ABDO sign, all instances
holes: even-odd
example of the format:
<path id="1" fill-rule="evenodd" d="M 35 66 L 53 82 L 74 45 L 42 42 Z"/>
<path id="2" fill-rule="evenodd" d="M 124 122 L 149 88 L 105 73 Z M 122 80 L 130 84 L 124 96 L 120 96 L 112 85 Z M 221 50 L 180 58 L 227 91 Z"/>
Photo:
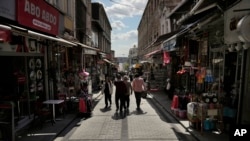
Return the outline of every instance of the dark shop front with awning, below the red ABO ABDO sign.
<path id="1" fill-rule="evenodd" d="M 1 106 L 0 110 L 2 111 L 1 121 L 5 118 L 13 118 L 15 127 L 8 129 L 17 130 L 25 126 L 20 124 L 21 121 L 33 118 L 36 101 L 54 97 L 50 92 L 49 81 L 57 75 L 50 71 L 52 63 L 48 62 L 48 50 L 56 50 L 57 56 L 54 58 L 58 60 L 58 56 L 61 55 L 59 53 L 62 53 L 65 48 L 63 46 L 72 44 L 19 26 L 13 27 L 0 25 L 0 65 L 2 66 L 0 99 L 4 103 L 13 103 L 13 114 L 6 114 Z M 54 65 L 59 65 L 58 63 Z"/>

